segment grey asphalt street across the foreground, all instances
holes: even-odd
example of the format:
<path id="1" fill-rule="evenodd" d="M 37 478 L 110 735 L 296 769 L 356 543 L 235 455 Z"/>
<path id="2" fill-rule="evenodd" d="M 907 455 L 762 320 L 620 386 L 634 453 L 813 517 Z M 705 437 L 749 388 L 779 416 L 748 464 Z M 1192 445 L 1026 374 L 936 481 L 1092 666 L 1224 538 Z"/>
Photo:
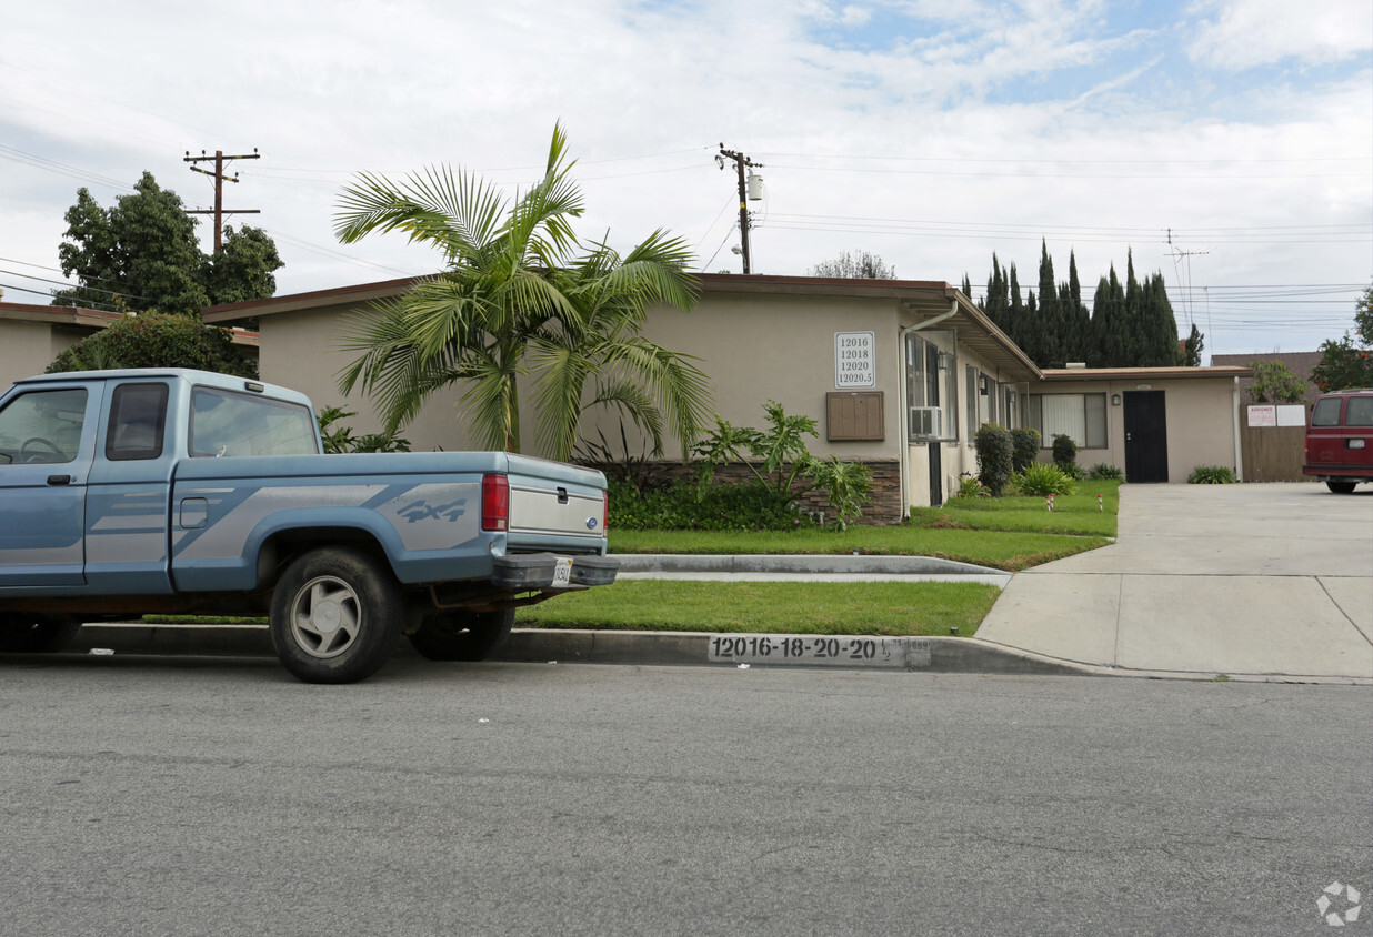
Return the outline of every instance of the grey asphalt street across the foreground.
<path id="1" fill-rule="evenodd" d="M 328 687 L 269 659 L 0 657 L 0 933 L 1333 933 L 1322 889 L 1373 896 L 1370 702 L 415 660 Z M 1340 933 L 1370 927 L 1362 908 Z"/>

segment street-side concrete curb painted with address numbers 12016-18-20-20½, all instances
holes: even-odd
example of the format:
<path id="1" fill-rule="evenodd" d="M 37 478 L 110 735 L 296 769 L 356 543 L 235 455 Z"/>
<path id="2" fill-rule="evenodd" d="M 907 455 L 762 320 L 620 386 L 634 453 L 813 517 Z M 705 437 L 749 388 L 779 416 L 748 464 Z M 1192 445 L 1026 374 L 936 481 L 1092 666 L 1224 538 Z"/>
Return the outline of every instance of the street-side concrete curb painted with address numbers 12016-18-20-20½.
<path id="1" fill-rule="evenodd" d="M 844 635 L 839 642 L 868 642 L 887 649 L 886 659 L 832 657 L 825 661 L 783 661 L 781 656 L 730 656 L 711 659 L 711 642 L 719 638 L 747 642 L 754 638 L 809 639 L 821 635 L 746 635 L 702 631 L 551 631 L 519 628 L 490 660 L 511 663 L 584 663 L 695 667 L 828 667 L 831 669 L 906 669 L 935 674 L 1043 674 L 1085 675 L 1093 668 L 1041 654 L 1000 648 L 976 638 L 879 638 Z M 89 654 L 188 654 L 258 657 L 273 656 L 272 639 L 262 626 L 88 624 L 67 653 Z M 415 657 L 409 642 L 398 657 Z"/>

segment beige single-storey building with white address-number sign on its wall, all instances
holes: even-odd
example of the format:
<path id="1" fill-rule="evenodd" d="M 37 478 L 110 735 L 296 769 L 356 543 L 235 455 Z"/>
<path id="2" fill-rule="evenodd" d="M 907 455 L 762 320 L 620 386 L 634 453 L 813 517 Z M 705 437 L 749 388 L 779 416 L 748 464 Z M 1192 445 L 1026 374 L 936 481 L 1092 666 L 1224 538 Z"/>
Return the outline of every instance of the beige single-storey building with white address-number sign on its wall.
<path id="1" fill-rule="evenodd" d="M 338 373 L 356 357 L 339 346 L 350 317 L 412 283 L 220 306 L 205 320 L 255 322 L 264 380 L 305 391 L 317 406 L 356 410 L 350 424 L 372 432 L 380 424 L 368 402 L 338 391 Z M 654 310 L 644 335 L 696 357 L 715 409 L 736 425 L 763 425 L 768 401 L 813 417 L 813 453 L 873 466 L 872 520 L 941 503 L 960 476 L 975 475 L 972 435 L 987 421 L 1035 427 L 1045 458 L 1054 434 L 1071 435 L 1079 464 L 1118 465 L 1137 482 L 1185 482 L 1200 464 L 1243 472 L 1236 381 L 1244 368 L 1041 370 L 941 281 L 703 274 L 700 284 L 692 311 Z M 460 396 L 457 388 L 437 395 L 405 428 L 415 449 L 472 447 Z M 582 435 L 597 429 L 618 440 L 618 417 L 586 414 Z M 522 447 L 537 453 L 529 418 Z"/>

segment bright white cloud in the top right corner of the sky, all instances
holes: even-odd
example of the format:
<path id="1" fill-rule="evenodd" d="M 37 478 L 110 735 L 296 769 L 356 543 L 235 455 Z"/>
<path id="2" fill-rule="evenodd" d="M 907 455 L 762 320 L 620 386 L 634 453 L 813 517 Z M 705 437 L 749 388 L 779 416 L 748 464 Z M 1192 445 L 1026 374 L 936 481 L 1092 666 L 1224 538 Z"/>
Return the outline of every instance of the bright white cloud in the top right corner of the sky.
<path id="1" fill-rule="evenodd" d="M 1188 45 L 1195 62 L 1244 70 L 1296 59 L 1340 62 L 1373 48 L 1373 4 L 1368 0 L 1201 0 L 1205 16 Z"/>

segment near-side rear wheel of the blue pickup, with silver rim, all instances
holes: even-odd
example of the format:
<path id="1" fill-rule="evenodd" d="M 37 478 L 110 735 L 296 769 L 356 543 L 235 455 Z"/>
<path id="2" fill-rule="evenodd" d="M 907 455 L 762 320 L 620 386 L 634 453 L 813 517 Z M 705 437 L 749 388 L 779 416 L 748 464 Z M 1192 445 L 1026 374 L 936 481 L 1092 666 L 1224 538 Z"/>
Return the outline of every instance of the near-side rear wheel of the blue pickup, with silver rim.
<path id="1" fill-rule="evenodd" d="M 353 683 L 390 660 L 404 615 L 384 561 L 353 547 L 319 547 L 291 562 L 276 584 L 272 646 L 306 683 Z"/>

